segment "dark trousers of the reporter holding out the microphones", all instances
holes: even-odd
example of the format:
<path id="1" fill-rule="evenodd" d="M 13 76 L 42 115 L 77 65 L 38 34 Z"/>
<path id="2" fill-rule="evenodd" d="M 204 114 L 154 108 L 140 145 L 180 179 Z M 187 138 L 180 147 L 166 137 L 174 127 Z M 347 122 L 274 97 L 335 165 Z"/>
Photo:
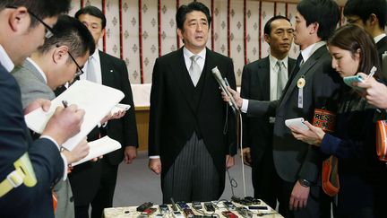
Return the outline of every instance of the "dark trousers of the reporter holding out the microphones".
<path id="1" fill-rule="evenodd" d="M 290 195 L 295 185 L 294 182 L 288 182 L 280 179 L 283 197 L 280 199 L 280 205 L 283 205 L 286 211 L 280 213 L 285 218 L 330 218 L 331 217 L 331 201 L 330 198 L 323 194 L 323 189 L 320 186 L 311 186 L 309 196 L 305 208 L 290 211 L 289 201 Z"/>

